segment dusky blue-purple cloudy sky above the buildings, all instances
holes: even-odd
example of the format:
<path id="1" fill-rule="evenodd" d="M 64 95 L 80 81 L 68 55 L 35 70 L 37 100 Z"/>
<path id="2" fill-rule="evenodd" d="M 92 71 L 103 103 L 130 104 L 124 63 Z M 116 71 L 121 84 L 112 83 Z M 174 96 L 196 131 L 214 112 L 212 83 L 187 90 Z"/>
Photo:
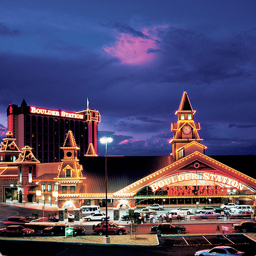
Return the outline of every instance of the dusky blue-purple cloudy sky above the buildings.
<path id="1" fill-rule="evenodd" d="M 186 91 L 206 155 L 255 155 L 255 71 L 254 0 L 0 0 L 1 138 L 10 103 L 88 97 L 108 155 L 167 156 Z"/>

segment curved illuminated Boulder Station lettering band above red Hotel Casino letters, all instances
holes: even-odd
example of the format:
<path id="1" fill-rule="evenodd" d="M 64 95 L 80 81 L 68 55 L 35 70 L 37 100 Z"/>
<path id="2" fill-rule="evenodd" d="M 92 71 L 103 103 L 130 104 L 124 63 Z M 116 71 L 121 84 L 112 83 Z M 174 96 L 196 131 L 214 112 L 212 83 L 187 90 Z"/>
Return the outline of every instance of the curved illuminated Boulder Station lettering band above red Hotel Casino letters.
<path id="1" fill-rule="evenodd" d="M 166 179 L 162 179 L 152 185 L 150 185 L 152 191 L 156 191 L 159 188 L 162 188 L 164 186 L 173 185 L 175 183 L 181 182 L 181 181 L 190 181 L 190 180 L 205 180 L 205 181 L 214 181 L 217 183 L 222 183 L 234 188 L 237 188 L 239 190 L 242 190 L 244 185 L 237 180 L 233 180 L 231 178 L 228 178 L 226 176 L 217 175 L 214 173 L 186 173 L 186 174 L 179 174 L 174 175 L 171 177 L 168 177 Z"/>

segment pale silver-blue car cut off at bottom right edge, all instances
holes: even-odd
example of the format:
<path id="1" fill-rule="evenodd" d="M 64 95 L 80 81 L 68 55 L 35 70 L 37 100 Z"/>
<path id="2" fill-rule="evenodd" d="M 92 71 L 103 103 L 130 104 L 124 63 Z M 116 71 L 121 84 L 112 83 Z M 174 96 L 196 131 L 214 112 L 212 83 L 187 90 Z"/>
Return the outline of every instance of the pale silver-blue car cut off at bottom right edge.
<path id="1" fill-rule="evenodd" d="M 205 256 L 210 256 L 210 255 L 226 255 L 226 256 L 243 256 L 245 253 L 243 251 L 238 251 L 232 247 L 229 246 L 216 246 L 212 249 L 205 249 L 205 250 L 200 250 L 195 252 L 195 256 L 199 255 L 205 255 Z"/>

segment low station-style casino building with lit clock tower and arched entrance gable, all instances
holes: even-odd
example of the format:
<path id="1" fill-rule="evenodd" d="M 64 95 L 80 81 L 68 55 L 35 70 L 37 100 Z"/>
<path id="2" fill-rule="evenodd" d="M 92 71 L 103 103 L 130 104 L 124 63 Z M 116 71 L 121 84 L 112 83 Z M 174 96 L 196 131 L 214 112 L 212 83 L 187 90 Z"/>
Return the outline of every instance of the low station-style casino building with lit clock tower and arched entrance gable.
<path id="1" fill-rule="evenodd" d="M 170 156 L 108 157 L 108 205 L 114 209 L 115 220 L 119 219 L 119 208 L 123 205 L 196 205 L 206 204 L 208 199 L 215 204 L 255 205 L 256 175 L 250 167 L 255 156 L 205 155 L 207 147 L 201 143 L 201 127 L 194 121 L 195 113 L 184 92 L 175 112 L 177 121 L 171 125 Z M 69 206 L 73 207 L 75 223 L 79 224 L 82 205 L 105 205 L 105 157 L 78 154 L 77 139 L 69 130 L 61 146 L 59 163 L 50 166 L 51 163 L 35 162 L 36 175 L 28 191 L 33 201 L 45 203 L 52 202 L 52 192 L 57 191 L 54 195 L 60 223 L 68 222 Z M 0 175 L 0 179 L 4 177 Z M 36 190 L 41 191 L 37 194 L 40 196 L 36 196 Z"/>

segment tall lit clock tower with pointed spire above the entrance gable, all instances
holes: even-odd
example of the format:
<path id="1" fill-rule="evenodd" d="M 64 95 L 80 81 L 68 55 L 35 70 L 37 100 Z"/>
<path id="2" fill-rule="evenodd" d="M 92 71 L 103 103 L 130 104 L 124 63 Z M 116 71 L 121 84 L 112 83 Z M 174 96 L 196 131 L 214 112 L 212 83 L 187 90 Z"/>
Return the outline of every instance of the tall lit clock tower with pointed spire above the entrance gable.
<path id="1" fill-rule="evenodd" d="M 175 113 L 178 116 L 178 121 L 172 123 L 171 127 L 174 136 L 169 141 L 169 143 L 172 143 L 174 160 L 188 155 L 187 153 L 191 152 L 193 148 L 194 151 L 204 153 L 206 147 L 200 144 L 202 141 L 198 135 L 200 124 L 194 121 L 195 113 L 196 111 L 192 109 L 187 93 L 183 92 L 179 109 Z"/>

